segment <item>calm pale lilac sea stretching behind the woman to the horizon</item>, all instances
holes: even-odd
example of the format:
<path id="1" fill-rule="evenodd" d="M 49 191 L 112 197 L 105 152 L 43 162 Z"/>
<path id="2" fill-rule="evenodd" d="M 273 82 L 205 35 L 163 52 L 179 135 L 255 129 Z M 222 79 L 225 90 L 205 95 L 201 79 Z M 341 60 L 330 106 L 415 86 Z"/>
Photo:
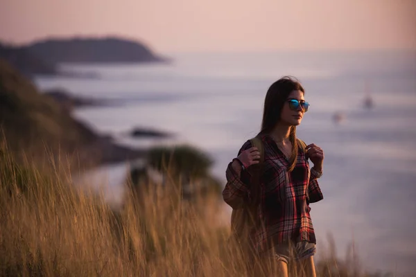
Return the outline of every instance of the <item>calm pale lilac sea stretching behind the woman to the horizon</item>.
<path id="1" fill-rule="evenodd" d="M 354 242 L 365 268 L 416 276 L 416 51 L 165 54 L 173 62 L 60 64 L 96 78 L 37 76 L 35 84 L 108 101 L 72 114 L 120 144 L 193 145 L 209 154 L 212 174 L 225 184 L 227 164 L 259 132 L 268 87 L 295 76 L 311 105 L 297 136 L 325 155 L 324 199 L 311 204 L 318 251 L 331 236 L 341 258 Z M 135 128 L 173 137 L 135 139 Z M 87 176 L 109 201 L 122 202 L 130 166 L 103 166 Z M 229 221 L 226 204 L 224 211 Z"/>

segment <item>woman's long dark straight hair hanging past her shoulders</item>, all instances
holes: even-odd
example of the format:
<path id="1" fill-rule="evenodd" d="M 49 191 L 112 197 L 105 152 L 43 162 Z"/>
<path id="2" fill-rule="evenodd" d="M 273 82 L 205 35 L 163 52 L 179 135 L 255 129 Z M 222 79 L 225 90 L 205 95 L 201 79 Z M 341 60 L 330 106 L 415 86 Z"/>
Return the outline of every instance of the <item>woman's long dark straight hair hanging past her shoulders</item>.
<path id="1" fill-rule="evenodd" d="M 281 117 L 281 109 L 283 109 L 284 103 L 292 91 L 302 91 L 305 93 L 304 88 L 300 82 L 291 76 L 284 76 L 274 82 L 268 89 L 266 98 L 264 99 L 263 120 L 261 122 L 260 134 L 268 134 L 279 122 Z M 291 134 L 289 139 L 293 145 L 291 153 L 291 166 L 289 171 L 295 168 L 297 158 L 297 139 L 296 139 L 296 126 L 291 127 Z"/>

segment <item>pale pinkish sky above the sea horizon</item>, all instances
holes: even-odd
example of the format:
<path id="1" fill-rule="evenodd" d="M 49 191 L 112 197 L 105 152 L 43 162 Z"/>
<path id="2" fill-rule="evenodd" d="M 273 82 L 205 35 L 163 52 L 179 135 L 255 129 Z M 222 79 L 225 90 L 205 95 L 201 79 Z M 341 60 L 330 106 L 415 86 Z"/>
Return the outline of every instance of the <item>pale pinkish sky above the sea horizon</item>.
<path id="1" fill-rule="evenodd" d="M 1 0 L 0 40 L 118 35 L 157 52 L 416 49 L 416 0 Z"/>

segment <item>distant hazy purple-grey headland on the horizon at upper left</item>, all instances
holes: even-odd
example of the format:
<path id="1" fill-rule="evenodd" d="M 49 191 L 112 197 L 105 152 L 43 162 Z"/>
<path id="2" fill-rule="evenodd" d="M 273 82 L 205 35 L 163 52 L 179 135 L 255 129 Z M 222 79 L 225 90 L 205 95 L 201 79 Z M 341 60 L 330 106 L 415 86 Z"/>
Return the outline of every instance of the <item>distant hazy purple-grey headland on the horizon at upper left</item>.
<path id="1" fill-rule="evenodd" d="M 24 75 L 58 75 L 61 63 L 169 62 L 141 42 L 119 37 L 47 38 L 15 46 L 0 42 L 0 57 Z"/>

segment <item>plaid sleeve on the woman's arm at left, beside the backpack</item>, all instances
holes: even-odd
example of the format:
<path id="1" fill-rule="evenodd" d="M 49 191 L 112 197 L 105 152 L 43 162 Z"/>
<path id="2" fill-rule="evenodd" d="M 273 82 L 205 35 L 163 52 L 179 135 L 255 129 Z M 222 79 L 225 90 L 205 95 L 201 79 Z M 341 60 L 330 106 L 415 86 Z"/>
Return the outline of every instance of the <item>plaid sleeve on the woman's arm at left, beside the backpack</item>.
<path id="1" fill-rule="evenodd" d="M 246 141 L 241 147 L 239 154 L 251 148 L 250 141 Z M 238 155 L 239 155 L 238 154 Z M 241 208 L 250 199 L 250 174 L 247 170 L 241 171 L 241 176 L 232 168 L 232 162 L 228 164 L 225 171 L 227 184 L 223 190 L 223 199 L 232 208 Z"/>

